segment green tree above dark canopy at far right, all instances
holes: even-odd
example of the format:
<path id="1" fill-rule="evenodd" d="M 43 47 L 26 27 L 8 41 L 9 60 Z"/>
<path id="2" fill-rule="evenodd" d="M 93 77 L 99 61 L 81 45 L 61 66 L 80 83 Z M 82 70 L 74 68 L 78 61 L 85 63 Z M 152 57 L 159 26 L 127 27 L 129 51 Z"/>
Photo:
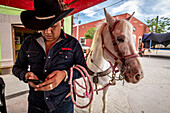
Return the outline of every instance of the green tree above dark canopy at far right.
<path id="1" fill-rule="evenodd" d="M 146 20 L 147 26 L 150 28 L 150 32 L 154 33 L 166 33 L 170 30 L 170 18 L 159 16 L 153 19 Z"/>

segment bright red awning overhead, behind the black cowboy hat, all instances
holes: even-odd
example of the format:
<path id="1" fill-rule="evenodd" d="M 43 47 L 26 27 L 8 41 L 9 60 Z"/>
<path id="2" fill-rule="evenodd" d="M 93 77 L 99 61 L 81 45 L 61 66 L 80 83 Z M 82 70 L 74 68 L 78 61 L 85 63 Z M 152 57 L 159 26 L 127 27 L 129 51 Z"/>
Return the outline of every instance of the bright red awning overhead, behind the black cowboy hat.
<path id="1" fill-rule="evenodd" d="M 61 0 L 65 4 L 69 5 L 69 8 L 74 8 L 75 10 L 70 14 L 80 12 L 86 8 L 92 7 L 96 4 L 104 2 L 106 0 Z M 0 0 L 0 5 L 10 6 L 25 10 L 34 10 L 33 0 Z"/>

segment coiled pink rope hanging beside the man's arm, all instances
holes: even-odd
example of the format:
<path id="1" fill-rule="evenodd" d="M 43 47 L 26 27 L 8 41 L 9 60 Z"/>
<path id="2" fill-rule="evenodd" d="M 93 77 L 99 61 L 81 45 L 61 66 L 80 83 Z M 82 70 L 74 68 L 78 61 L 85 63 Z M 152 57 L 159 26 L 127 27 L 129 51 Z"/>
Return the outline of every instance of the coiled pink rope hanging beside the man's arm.
<path id="1" fill-rule="evenodd" d="M 83 88 L 83 89 L 86 90 L 85 95 L 83 95 L 83 96 L 82 96 L 82 95 L 79 95 L 79 94 L 77 93 L 77 91 L 76 91 L 76 87 L 75 87 L 75 86 L 76 86 L 76 82 L 75 82 L 75 80 L 73 81 L 73 69 L 78 70 L 78 71 L 81 73 L 82 77 L 83 77 L 83 80 L 84 80 L 84 83 L 85 83 L 85 87 L 86 87 L 86 88 Z M 85 73 L 85 75 L 86 75 L 86 77 L 87 77 L 87 80 L 88 80 L 88 83 L 89 83 L 89 87 L 88 87 L 88 85 L 87 85 L 87 81 L 86 81 L 86 78 L 85 78 L 85 75 L 84 75 L 83 72 Z M 89 75 L 88 75 L 87 70 L 86 70 L 84 67 L 80 66 L 80 65 L 76 65 L 76 66 L 74 66 L 74 67 L 71 67 L 71 68 L 70 68 L 70 80 L 69 80 L 69 84 L 70 84 L 71 99 L 72 99 L 73 103 L 74 103 L 78 108 L 86 108 L 86 107 L 88 107 L 88 106 L 91 104 L 92 100 L 93 100 L 94 90 L 93 90 L 93 85 L 92 85 L 92 82 L 91 82 L 91 79 L 90 79 L 90 77 L 89 77 Z M 74 99 L 73 88 L 74 88 L 75 94 L 76 94 L 78 97 L 80 97 L 80 98 L 88 97 L 88 98 L 89 98 L 89 103 L 88 103 L 87 105 L 80 106 L 80 105 L 78 105 L 78 104 L 76 103 L 76 101 L 75 101 L 75 99 Z M 90 96 L 90 97 L 89 97 L 89 96 Z"/>

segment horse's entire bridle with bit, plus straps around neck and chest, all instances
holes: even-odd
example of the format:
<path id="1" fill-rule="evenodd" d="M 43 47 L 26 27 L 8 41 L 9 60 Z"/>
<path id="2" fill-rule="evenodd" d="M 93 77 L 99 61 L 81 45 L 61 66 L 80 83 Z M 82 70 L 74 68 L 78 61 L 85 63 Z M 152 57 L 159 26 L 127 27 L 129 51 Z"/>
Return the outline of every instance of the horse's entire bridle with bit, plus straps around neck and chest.
<path id="1" fill-rule="evenodd" d="M 103 36 L 103 34 L 101 33 L 103 56 L 104 56 L 104 51 L 106 51 L 106 52 L 108 53 L 108 55 L 111 56 L 111 58 L 113 58 L 114 61 L 115 61 L 114 65 L 112 65 L 111 61 L 108 61 L 108 62 L 110 63 L 110 65 L 111 65 L 112 73 L 113 73 L 113 74 L 112 74 L 112 78 L 111 78 L 111 80 L 110 80 L 110 82 L 109 82 L 109 84 L 111 84 L 111 85 L 115 85 L 115 80 L 116 80 L 115 74 L 116 74 L 117 72 L 119 72 L 119 70 L 116 70 L 116 67 L 117 67 L 120 63 L 122 64 L 122 65 L 121 65 L 121 69 L 120 69 L 120 75 L 119 75 L 119 78 L 118 78 L 117 80 L 123 80 L 123 79 L 124 79 L 123 75 L 124 75 L 124 73 L 126 72 L 126 70 L 129 68 L 129 67 L 126 66 L 125 62 L 126 62 L 128 59 L 138 57 L 138 54 L 136 54 L 136 53 L 130 54 L 130 55 L 126 55 L 126 56 L 122 56 L 122 54 L 120 54 L 120 50 L 119 50 L 119 48 L 118 48 L 118 44 L 116 43 L 115 36 L 114 36 L 113 33 L 112 33 L 112 32 L 114 31 L 116 25 L 117 25 L 119 22 L 120 22 L 119 20 L 116 20 L 112 27 L 109 26 L 110 36 L 111 36 L 111 38 L 112 38 L 112 43 L 113 43 L 114 49 L 115 49 L 115 51 L 117 52 L 117 56 L 116 56 L 115 54 L 113 54 L 113 53 L 106 47 L 106 45 L 105 45 L 105 43 L 104 43 L 104 36 Z M 107 25 L 107 24 L 105 24 L 105 26 L 106 26 L 106 25 Z M 93 51 L 89 51 L 89 53 L 87 54 L 86 57 L 88 57 L 89 54 L 90 54 L 90 56 L 91 56 L 91 55 L 92 55 L 92 52 L 93 52 Z M 93 59 L 91 59 L 91 62 L 92 62 L 97 68 L 99 68 L 99 67 L 95 64 L 95 62 L 93 61 Z M 99 69 L 100 69 L 100 68 L 99 68 Z M 100 69 L 100 70 L 101 70 L 101 69 Z M 111 71 L 110 71 L 110 67 L 109 67 L 107 70 L 105 70 L 105 71 L 102 71 L 102 70 L 101 70 L 101 72 L 97 72 L 97 73 L 91 71 L 91 70 L 88 68 L 88 73 L 89 73 L 89 75 L 93 76 L 93 81 L 94 81 L 95 84 L 98 83 L 98 77 L 106 76 L 106 75 L 108 75 L 110 72 L 111 72 Z M 100 76 L 100 74 L 102 74 L 102 76 Z M 96 82 L 96 80 L 95 80 L 95 79 L 96 79 L 96 76 L 97 76 L 97 82 Z M 124 84 L 124 82 L 123 82 L 123 84 Z M 96 88 L 96 90 L 97 90 L 97 88 Z"/>

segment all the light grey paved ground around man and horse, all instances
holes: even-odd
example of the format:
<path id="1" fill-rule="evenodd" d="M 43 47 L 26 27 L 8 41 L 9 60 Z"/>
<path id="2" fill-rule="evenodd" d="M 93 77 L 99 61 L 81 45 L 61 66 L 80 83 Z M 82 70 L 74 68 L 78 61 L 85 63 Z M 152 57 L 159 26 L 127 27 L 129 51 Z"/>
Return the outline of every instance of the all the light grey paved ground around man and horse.
<path id="1" fill-rule="evenodd" d="M 158 52 L 159 53 L 159 52 Z M 159 57 L 158 57 L 159 56 Z M 118 82 L 108 91 L 108 113 L 170 113 L 170 53 L 141 57 L 145 77 L 138 84 Z M 13 75 L 0 75 L 6 83 L 8 113 L 27 112 L 28 86 Z M 20 95 L 16 96 L 14 94 Z M 102 92 L 95 96 L 94 112 L 102 112 Z M 84 104 L 87 100 L 80 101 Z M 75 108 L 75 113 L 88 109 Z"/>

